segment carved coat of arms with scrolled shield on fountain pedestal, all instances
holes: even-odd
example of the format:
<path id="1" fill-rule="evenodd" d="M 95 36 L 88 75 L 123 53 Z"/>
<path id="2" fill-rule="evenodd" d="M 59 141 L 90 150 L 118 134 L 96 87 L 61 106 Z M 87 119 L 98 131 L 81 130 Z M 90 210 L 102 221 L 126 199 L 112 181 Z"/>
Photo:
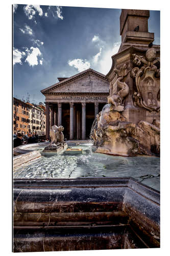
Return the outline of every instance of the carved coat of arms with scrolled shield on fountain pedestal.
<path id="1" fill-rule="evenodd" d="M 160 60 L 156 50 L 149 49 L 145 57 L 133 54 L 133 62 L 139 66 L 131 71 L 135 78 L 137 92 L 134 93 L 134 105 L 150 111 L 160 110 Z"/>

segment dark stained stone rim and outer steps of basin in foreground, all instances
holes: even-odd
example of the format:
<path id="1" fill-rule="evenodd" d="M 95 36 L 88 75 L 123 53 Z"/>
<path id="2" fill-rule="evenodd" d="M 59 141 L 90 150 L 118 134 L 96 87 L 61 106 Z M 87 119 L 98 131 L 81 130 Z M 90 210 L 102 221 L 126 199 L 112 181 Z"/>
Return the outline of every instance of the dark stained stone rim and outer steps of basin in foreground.
<path id="1" fill-rule="evenodd" d="M 15 179 L 14 251 L 159 247 L 159 196 L 132 178 Z"/>

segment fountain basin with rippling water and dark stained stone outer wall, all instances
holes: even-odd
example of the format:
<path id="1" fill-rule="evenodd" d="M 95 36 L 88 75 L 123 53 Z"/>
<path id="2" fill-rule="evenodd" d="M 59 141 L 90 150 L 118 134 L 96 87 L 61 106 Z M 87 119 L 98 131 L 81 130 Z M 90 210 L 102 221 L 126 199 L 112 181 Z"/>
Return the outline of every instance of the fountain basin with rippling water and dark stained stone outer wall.
<path id="1" fill-rule="evenodd" d="M 107 156 L 88 143 L 81 155 L 44 157 L 45 146 L 14 168 L 14 252 L 160 247 L 160 193 L 143 182 L 158 158 Z"/>

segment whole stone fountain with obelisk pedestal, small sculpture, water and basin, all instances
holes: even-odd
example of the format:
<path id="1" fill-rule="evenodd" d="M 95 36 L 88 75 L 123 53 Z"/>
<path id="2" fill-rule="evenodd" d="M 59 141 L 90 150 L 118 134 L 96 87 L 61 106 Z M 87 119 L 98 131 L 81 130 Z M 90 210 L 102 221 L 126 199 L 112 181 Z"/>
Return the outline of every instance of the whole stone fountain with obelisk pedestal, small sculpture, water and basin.
<path id="1" fill-rule="evenodd" d="M 160 61 L 159 47 L 148 49 L 148 17 L 120 15 L 108 103 L 91 127 L 96 152 L 71 142 L 81 155 L 63 154 L 63 127 L 54 125 L 42 156 L 33 145 L 14 157 L 14 252 L 160 247 Z M 133 31 L 134 20 L 143 30 Z"/>

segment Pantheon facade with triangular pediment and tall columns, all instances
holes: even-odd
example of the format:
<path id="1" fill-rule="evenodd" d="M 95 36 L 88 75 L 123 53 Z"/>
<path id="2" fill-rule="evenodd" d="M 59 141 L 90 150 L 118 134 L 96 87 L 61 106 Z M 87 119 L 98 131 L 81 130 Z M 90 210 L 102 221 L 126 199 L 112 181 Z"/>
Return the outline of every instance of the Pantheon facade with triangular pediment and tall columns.
<path id="1" fill-rule="evenodd" d="M 53 86 L 41 90 L 46 105 L 46 139 L 49 139 L 50 127 L 54 124 L 64 127 L 67 140 L 89 139 L 94 118 L 107 103 L 108 79 L 87 69 L 58 80 Z"/>

